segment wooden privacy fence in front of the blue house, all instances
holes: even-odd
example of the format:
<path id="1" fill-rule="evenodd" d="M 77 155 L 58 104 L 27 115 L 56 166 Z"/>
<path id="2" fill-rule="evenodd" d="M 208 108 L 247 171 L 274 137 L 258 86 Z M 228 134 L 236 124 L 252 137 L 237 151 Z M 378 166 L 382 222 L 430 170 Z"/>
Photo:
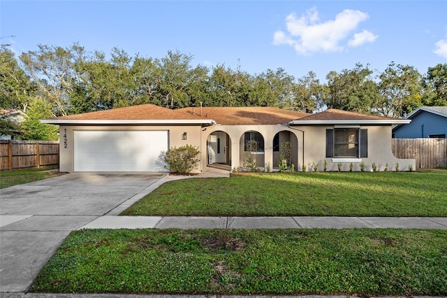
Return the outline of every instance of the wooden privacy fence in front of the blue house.
<path id="1" fill-rule="evenodd" d="M 447 166 L 447 139 L 393 139 L 397 158 L 416 159 L 416 168 Z"/>

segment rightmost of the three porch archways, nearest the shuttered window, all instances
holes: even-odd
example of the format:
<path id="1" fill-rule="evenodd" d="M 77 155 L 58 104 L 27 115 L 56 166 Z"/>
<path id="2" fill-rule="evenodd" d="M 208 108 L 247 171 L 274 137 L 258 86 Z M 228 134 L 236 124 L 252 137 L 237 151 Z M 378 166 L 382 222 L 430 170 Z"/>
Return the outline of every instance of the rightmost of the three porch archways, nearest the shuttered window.
<path id="1" fill-rule="evenodd" d="M 298 169 L 298 139 L 292 132 L 283 130 L 274 135 L 273 138 L 273 169 L 279 169 L 281 161 L 281 153 L 286 155 L 287 162 L 284 166 L 291 167 L 291 164 L 295 166 L 295 170 Z M 287 152 L 290 151 L 290 152 Z M 288 156 L 287 156 L 288 155 Z"/>

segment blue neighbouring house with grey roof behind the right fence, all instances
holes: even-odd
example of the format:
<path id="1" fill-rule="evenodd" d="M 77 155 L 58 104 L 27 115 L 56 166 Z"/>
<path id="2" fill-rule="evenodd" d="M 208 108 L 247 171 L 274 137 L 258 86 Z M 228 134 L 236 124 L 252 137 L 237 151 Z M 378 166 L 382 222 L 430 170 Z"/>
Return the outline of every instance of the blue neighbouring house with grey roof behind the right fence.
<path id="1" fill-rule="evenodd" d="M 406 119 L 411 122 L 393 127 L 393 138 L 446 138 L 447 106 L 420 106 Z"/>

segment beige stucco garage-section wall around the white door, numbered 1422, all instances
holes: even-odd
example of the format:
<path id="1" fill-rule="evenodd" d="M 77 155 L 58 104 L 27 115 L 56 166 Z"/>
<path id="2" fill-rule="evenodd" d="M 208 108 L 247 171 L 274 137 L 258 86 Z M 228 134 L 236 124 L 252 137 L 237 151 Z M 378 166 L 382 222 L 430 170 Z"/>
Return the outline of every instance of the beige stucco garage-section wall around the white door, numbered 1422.
<path id="1" fill-rule="evenodd" d="M 74 171 L 74 131 L 75 130 L 167 130 L 169 134 L 168 148 L 180 147 L 185 145 L 196 146 L 200 150 L 200 125 L 191 126 L 65 126 L 59 127 L 60 136 L 60 155 L 59 155 L 59 171 L 73 172 Z M 186 132 L 186 140 L 182 140 L 182 134 Z M 204 150 L 202 150 L 204 151 Z M 202 171 L 201 161 L 196 169 L 196 172 Z"/>

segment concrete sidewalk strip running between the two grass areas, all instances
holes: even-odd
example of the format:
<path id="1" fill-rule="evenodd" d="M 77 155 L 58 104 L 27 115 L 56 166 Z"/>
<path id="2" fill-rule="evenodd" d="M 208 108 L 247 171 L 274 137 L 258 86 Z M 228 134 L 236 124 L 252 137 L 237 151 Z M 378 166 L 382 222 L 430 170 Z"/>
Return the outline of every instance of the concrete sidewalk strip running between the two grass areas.
<path id="1" fill-rule="evenodd" d="M 447 218 L 102 216 L 79 229 L 447 229 Z"/>

